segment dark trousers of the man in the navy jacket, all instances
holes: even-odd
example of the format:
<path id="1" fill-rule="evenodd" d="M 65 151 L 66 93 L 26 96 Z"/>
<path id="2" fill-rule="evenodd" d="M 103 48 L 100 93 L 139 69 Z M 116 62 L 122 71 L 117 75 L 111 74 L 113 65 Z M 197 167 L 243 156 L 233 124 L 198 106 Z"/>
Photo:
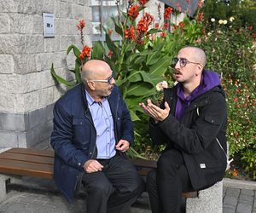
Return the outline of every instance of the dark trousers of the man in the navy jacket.
<path id="1" fill-rule="evenodd" d="M 129 210 L 144 191 L 144 181 L 129 159 L 119 155 L 99 160 L 102 171 L 85 173 L 87 213 L 117 213 Z"/>

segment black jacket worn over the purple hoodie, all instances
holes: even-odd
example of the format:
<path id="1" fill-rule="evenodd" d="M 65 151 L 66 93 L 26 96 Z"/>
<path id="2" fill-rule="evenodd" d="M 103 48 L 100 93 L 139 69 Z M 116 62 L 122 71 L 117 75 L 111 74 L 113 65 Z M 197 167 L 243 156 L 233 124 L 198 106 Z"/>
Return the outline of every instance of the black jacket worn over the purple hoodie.
<path id="1" fill-rule="evenodd" d="M 174 117 L 177 87 L 164 90 L 164 101 L 171 108 L 169 116 L 158 124 L 150 119 L 149 134 L 154 144 L 166 143 L 167 150 L 181 151 L 195 190 L 221 181 L 227 164 L 227 112 L 222 87 L 217 86 L 192 101 L 181 122 Z"/>

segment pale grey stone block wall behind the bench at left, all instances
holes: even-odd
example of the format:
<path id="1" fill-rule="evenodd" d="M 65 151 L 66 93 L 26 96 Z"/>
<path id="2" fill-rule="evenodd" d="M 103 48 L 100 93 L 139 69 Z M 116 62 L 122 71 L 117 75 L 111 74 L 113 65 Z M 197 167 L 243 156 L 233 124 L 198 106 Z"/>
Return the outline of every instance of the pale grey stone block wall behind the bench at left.
<path id="1" fill-rule="evenodd" d="M 55 37 L 44 38 L 43 13 L 55 14 Z M 49 146 L 52 109 L 63 88 L 50 75 L 51 64 L 64 78 L 81 48 L 78 20 L 84 19 L 84 43 L 91 46 L 89 0 L 0 0 L 0 148 Z"/>

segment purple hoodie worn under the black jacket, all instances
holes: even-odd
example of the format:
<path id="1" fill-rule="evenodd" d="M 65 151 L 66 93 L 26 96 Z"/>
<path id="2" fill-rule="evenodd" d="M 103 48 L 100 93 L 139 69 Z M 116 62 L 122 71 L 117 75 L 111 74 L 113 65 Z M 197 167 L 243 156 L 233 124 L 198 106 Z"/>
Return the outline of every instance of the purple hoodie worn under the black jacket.
<path id="1" fill-rule="evenodd" d="M 220 78 L 217 72 L 205 70 L 201 76 L 200 85 L 194 89 L 194 91 L 185 98 L 182 83 L 177 83 L 177 104 L 175 117 L 178 121 L 181 121 L 183 112 L 189 107 L 190 103 L 195 100 L 199 95 L 202 95 L 210 89 L 218 86 Z"/>

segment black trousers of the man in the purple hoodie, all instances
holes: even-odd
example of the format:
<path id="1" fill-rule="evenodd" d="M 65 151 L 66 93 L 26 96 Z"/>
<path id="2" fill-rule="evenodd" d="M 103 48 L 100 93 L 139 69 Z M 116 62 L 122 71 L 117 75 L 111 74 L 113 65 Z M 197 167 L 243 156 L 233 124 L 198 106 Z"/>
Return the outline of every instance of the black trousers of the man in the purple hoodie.
<path id="1" fill-rule="evenodd" d="M 172 149 L 161 154 L 157 169 L 148 173 L 147 190 L 153 213 L 181 212 L 182 193 L 194 190 L 179 151 Z"/>

